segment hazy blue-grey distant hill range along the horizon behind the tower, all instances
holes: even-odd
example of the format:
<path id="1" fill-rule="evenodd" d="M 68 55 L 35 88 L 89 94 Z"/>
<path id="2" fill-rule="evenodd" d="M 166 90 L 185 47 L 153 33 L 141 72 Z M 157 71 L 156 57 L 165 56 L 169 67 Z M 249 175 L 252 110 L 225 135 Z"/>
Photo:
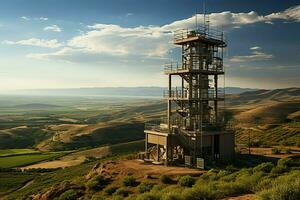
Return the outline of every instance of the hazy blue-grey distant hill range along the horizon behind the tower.
<path id="1" fill-rule="evenodd" d="M 56 95 L 56 96 L 136 96 L 162 97 L 165 87 L 94 87 L 94 88 L 66 88 L 66 89 L 32 89 L 11 92 L 20 95 Z M 256 91 L 253 88 L 226 87 L 227 94 Z"/>

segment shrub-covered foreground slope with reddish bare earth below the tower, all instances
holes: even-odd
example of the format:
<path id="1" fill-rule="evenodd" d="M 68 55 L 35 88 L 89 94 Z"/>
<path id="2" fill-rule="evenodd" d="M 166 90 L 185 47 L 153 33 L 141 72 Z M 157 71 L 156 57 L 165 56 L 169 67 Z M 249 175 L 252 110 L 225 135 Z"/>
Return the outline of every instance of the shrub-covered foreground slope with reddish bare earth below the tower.
<path id="1" fill-rule="evenodd" d="M 109 159 L 114 159 L 114 157 Z M 242 163 L 254 158 L 241 157 L 230 166 L 211 169 L 202 175 L 198 174 L 194 177 L 164 175 L 163 178 L 162 174 L 139 176 L 143 172 L 132 171 L 130 166 L 129 168 L 125 166 L 120 175 L 120 171 L 116 170 L 120 170 L 119 167 L 124 163 L 130 162 L 123 162 L 119 159 L 114 159 L 114 161 L 102 159 L 46 172 L 42 176 L 33 172 L 18 172 L 24 176 L 27 183 L 30 183 L 25 187 L 21 187 L 22 183 L 19 180 L 22 176 L 14 175 L 9 178 L 0 173 L 1 180 L 7 180 L 8 184 L 16 182 L 16 184 L 11 184 L 13 186 L 11 190 L 14 189 L 14 191 L 4 199 L 23 199 L 34 195 L 36 199 L 196 200 L 224 199 L 251 194 L 252 198 L 263 200 L 270 197 L 297 200 L 300 195 L 298 180 L 300 160 L 297 157 L 275 160 L 273 163 L 259 160 L 258 164 L 254 164 L 253 167 Z M 18 185 L 19 188 L 14 185 Z"/>

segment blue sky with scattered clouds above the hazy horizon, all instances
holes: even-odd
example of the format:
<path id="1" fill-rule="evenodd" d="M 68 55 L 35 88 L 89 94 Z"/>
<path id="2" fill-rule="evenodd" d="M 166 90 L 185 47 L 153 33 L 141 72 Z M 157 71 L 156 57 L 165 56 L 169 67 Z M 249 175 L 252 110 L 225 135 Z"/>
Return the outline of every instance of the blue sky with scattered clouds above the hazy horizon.
<path id="1" fill-rule="evenodd" d="M 2 0 L 0 92 L 166 86 L 173 32 L 203 22 L 202 0 Z M 300 87 L 300 0 L 206 0 L 224 31 L 226 86 Z"/>

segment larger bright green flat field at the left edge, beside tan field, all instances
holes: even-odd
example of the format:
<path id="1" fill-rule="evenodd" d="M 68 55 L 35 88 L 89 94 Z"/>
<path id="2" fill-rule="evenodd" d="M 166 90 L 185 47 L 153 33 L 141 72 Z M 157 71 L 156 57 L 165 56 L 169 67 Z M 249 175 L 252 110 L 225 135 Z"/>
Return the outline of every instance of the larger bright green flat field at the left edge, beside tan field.
<path id="1" fill-rule="evenodd" d="M 55 159 L 65 155 L 66 152 L 51 152 L 40 154 L 13 155 L 0 157 L 0 168 L 21 167 L 45 160 Z"/>

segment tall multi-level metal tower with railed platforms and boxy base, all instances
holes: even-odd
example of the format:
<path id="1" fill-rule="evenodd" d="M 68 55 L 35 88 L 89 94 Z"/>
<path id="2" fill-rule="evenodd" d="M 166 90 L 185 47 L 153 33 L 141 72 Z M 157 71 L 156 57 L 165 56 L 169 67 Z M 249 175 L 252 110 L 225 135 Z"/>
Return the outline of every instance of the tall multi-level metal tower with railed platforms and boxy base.
<path id="1" fill-rule="evenodd" d="M 196 165 L 197 158 L 229 159 L 234 154 L 234 136 L 220 110 L 225 98 L 224 87 L 219 88 L 219 77 L 224 76 L 223 32 L 206 25 L 179 30 L 173 43 L 181 47 L 181 63 L 165 65 L 167 119 L 159 125 L 146 124 L 145 159 L 181 160 L 187 165 Z M 174 87 L 174 79 L 180 80 L 180 86 Z"/>

